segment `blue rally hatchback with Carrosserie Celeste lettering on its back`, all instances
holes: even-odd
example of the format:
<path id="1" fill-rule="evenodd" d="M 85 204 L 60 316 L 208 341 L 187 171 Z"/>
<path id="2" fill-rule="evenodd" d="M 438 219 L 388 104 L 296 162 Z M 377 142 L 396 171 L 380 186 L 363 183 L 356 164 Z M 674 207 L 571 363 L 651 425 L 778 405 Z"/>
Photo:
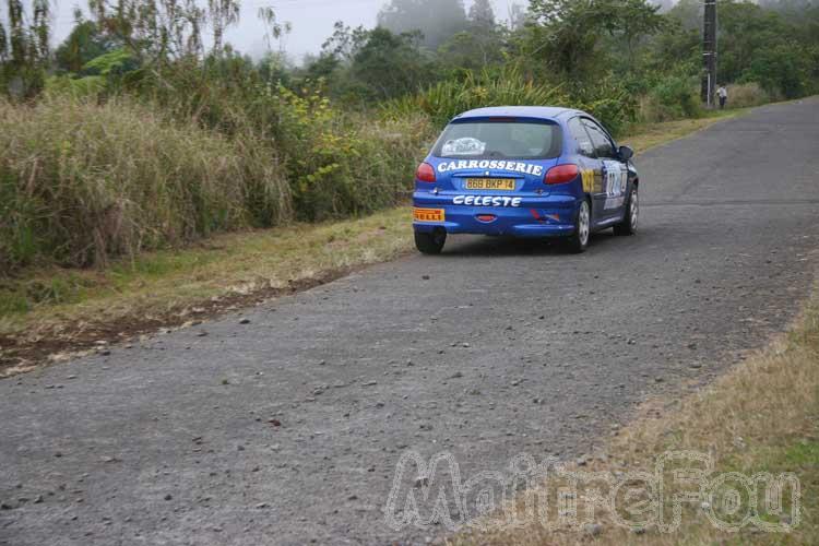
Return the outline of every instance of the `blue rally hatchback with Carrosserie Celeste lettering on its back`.
<path id="1" fill-rule="evenodd" d="M 582 252 L 592 232 L 637 232 L 633 151 L 589 114 L 494 107 L 456 116 L 415 174 L 415 245 L 439 253 L 447 234 L 563 237 Z"/>

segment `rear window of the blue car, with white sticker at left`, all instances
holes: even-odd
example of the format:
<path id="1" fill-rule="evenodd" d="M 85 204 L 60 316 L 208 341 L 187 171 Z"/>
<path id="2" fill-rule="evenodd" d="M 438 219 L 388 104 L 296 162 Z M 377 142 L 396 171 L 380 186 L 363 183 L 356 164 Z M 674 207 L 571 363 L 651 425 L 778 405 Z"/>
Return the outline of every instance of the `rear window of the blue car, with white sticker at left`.
<path id="1" fill-rule="evenodd" d="M 560 126 L 535 120 L 465 120 L 450 123 L 432 151 L 436 157 L 551 159 L 561 152 Z"/>

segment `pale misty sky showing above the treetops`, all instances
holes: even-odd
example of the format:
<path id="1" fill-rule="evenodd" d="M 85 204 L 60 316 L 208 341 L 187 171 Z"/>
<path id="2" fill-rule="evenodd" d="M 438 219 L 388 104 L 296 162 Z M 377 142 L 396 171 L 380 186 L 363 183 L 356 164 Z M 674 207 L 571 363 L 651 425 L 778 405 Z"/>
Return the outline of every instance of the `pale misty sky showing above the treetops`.
<path id="1" fill-rule="evenodd" d="M 72 2 L 56 0 L 54 44 L 60 44 L 73 26 L 72 12 L 75 5 L 85 9 L 87 0 Z M 266 49 L 264 29 L 257 17 L 259 8 L 272 5 L 280 21 L 293 23 L 293 33 L 285 41 L 290 58 L 300 62 L 305 54 L 316 54 L 321 44 L 333 33 L 333 23 L 344 21 L 351 26 L 375 26 L 376 15 L 387 0 L 242 0 L 241 21 L 230 29 L 227 40 L 240 51 L 258 56 Z M 466 8 L 471 0 L 465 0 Z M 514 0 L 492 0 L 498 20 L 509 19 L 509 5 Z M 526 5 L 526 0 L 517 3 Z"/>

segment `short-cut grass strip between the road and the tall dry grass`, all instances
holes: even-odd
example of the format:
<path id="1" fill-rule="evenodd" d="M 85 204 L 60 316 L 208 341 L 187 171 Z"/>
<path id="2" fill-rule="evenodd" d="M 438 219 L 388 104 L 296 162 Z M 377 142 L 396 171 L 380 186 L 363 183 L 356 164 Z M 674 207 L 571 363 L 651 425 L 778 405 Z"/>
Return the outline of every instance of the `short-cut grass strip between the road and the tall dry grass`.
<path id="1" fill-rule="evenodd" d="M 230 293 L 284 289 L 325 271 L 395 256 L 410 239 L 399 237 L 405 235 L 406 214 L 406 207 L 390 209 L 360 219 L 222 234 L 104 270 L 33 271 L 0 284 L 0 324 L 9 332 L 32 321 L 105 314 L 120 305 L 162 311 Z"/>

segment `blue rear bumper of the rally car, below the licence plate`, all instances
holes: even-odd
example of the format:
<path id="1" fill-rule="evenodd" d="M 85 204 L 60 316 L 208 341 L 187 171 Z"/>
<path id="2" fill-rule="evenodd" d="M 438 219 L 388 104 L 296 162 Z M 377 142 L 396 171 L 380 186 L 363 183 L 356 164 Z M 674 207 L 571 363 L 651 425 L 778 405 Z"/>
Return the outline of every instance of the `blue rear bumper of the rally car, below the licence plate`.
<path id="1" fill-rule="evenodd" d="M 443 228 L 449 234 L 510 235 L 514 237 L 562 237 L 574 233 L 580 201 L 573 195 L 523 198 L 519 206 L 470 206 L 453 204 L 452 195 L 416 192 L 413 205 L 442 209 L 443 222 L 413 222 L 419 233 Z M 478 219 L 491 215 L 491 221 Z"/>

